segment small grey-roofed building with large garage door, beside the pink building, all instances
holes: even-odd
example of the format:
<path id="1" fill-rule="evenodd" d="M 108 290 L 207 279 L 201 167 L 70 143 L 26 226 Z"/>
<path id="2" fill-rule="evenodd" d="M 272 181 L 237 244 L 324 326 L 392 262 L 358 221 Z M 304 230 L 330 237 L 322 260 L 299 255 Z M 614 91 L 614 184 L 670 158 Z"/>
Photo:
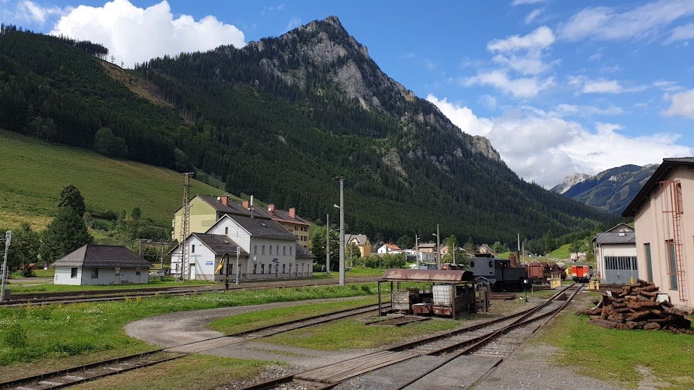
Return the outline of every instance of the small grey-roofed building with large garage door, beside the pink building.
<path id="1" fill-rule="evenodd" d="M 601 282 L 626 284 L 638 279 L 634 228 L 620 223 L 595 235 L 593 245 Z"/>

